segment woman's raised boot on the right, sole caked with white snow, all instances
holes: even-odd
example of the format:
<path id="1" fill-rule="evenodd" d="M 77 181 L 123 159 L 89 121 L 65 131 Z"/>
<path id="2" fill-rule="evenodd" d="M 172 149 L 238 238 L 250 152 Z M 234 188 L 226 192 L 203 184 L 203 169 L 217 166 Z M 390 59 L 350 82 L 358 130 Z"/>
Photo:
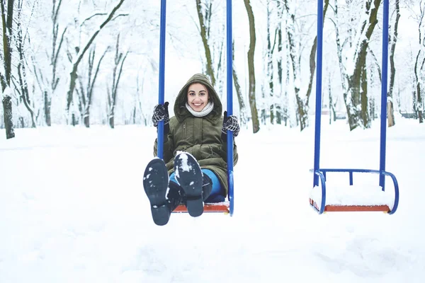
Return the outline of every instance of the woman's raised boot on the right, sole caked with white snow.
<path id="1" fill-rule="evenodd" d="M 186 195 L 188 213 L 193 216 L 203 214 L 203 173 L 198 161 L 187 152 L 182 152 L 174 158 L 176 180 Z"/>

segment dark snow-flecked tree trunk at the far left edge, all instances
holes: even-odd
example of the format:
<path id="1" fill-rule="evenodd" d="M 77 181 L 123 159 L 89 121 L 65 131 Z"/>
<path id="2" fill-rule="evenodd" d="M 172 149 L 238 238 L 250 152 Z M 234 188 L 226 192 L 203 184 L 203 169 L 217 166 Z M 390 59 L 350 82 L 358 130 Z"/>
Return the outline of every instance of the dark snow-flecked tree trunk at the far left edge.
<path id="1" fill-rule="evenodd" d="M 3 54 L 1 59 L 3 60 L 4 70 L 0 72 L 0 83 L 1 91 L 3 92 L 3 103 L 4 110 L 4 125 L 6 127 L 6 139 L 15 137 L 15 131 L 13 129 L 13 112 L 12 112 L 12 93 L 11 93 L 11 74 L 12 74 L 12 36 L 13 36 L 13 0 L 7 1 L 7 7 L 5 6 L 6 1 L 0 1 L 1 7 L 1 26 L 3 36 Z"/>

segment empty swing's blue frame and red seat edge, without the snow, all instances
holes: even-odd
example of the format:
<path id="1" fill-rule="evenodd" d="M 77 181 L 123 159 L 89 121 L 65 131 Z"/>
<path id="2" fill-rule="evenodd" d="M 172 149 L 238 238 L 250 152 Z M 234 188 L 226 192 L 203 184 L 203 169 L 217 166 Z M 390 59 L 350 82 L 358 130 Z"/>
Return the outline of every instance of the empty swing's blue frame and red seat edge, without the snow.
<path id="1" fill-rule="evenodd" d="M 383 25 L 382 25 L 382 81 L 381 81 L 381 113 L 380 113 L 380 168 L 379 170 L 369 169 L 324 169 L 319 166 L 320 157 L 320 124 L 322 113 L 322 45 L 323 45 L 323 0 L 317 0 L 317 69 L 316 69 L 316 113 L 315 113 L 315 132 L 314 132 L 314 168 L 313 168 L 313 190 L 317 190 L 319 178 L 322 185 L 322 202 L 320 207 L 310 199 L 310 205 L 317 210 L 319 214 L 325 211 L 383 211 L 388 214 L 394 214 L 399 202 L 399 186 L 395 175 L 385 171 L 385 147 L 387 139 L 387 69 L 388 69 L 388 14 L 389 0 L 384 0 Z M 349 175 L 350 185 L 353 185 L 353 173 L 375 173 L 379 175 L 379 185 L 382 191 L 385 191 L 385 176 L 390 176 L 394 183 L 395 200 L 394 206 L 390 211 L 387 208 L 382 210 L 382 206 L 356 206 L 351 209 L 333 207 L 327 210 L 326 205 L 326 173 L 344 172 Z M 377 208 L 378 207 L 378 208 Z M 387 210 L 387 211 L 385 211 Z"/>

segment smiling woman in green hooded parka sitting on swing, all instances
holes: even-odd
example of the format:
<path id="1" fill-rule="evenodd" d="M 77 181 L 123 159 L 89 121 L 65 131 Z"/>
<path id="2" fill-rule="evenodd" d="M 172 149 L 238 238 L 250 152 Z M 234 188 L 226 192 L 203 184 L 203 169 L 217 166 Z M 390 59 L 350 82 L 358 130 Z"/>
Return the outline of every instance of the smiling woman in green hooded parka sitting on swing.
<path id="1" fill-rule="evenodd" d="M 227 195 L 227 130 L 239 133 L 237 117 L 225 112 L 220 98 L 203 74 L 195 74 L 181 88 L 169 118 L 169 103 L 154 108 L 152 122 L 164 121 L 164 160 L 147 164 L 143 187 L 157 225 L 168 223 L 183 203 L 193 216 L 203 214 L 204 202 L 223 202 Z M 237 146 L 233 146 L 234 164 Z M 157 156 L 157 139 L 154 144 Z"/>

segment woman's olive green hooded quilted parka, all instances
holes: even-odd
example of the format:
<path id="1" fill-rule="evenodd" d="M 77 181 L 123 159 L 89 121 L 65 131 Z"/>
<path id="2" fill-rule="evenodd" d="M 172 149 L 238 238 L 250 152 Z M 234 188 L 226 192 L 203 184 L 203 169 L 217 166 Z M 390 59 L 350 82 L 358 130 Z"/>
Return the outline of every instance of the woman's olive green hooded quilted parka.
<path id="1" fill-rule="evenodd" d="M 188 87 L 192 83 L 202 83 L 206 86 L 209 99 L 214 103 L 210 114 L 204 117 L 195 117 L 186 108 Z M 174 114 L 169 122 L 169 134 L 164 137 L 164 161 L 169 174 L 174 171 L 174 157 L 177 151 L 186 151 L 196 158 L 201 168 L 210 169 L 217 175 L 227 194 L 227 144 L 221 139 L 222 103 L 205 75 L 193 75 L 181 88 L 174 103 Z M 154 155 L 157 156 L 157 140 L 154 144 Z M 237 159 L 237 146 L 234 143 L 234 164 Z"/>

